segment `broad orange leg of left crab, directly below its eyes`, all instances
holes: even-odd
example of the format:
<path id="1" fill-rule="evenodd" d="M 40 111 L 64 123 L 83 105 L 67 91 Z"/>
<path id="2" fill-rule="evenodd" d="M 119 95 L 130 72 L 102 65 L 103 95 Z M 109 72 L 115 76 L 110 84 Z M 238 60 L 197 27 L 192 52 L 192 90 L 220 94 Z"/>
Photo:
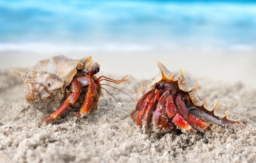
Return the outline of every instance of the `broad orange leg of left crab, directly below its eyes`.
<path id="1" fill-rule="evenodd" d="M 97 108 L 97 102 L 99 101 L 97 84 L 94 83 L 94 80 L 92 78 L 89 78 L 89 79 L 90 79 L 90 84 L 86 90 L 85 101 L 83 102 L 83 106 L 79 110 L 79 113 L 77 113 L 73 117 L 80 117 L 81 114 L 84 114 L 87 112 L 91 113 L 95 108 Z"/>

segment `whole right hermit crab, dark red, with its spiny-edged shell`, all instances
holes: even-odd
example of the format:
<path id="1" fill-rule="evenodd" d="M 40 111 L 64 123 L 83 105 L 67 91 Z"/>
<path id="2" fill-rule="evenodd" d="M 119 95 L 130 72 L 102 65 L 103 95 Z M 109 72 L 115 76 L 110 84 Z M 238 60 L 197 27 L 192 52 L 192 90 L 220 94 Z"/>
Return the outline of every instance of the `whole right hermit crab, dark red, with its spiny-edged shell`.
<path id="1" fill-rule="evenodd" d="M 210 121 L 220 126 L 240 123 L 229 118 L 229 111 L 218 112 L 218 101 L 211 108 L 207 99 L 201 100 L 196 92 L 198 84 L 193 84 L 182 70 L 170 72 L 162 63 L 157 64 L 159 75 L 147 86 L 131 114 L 137 126 L 155 132 L 169 132 L 177 127 L 190 133 L 204 132 Z"/>

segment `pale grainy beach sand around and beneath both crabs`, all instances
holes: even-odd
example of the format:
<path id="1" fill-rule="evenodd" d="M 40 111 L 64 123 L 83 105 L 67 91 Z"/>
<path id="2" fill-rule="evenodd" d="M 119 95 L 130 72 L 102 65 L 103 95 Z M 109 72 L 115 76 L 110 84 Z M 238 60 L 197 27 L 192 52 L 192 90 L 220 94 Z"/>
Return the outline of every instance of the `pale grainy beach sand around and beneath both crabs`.
<path id="1" fill-rule="evenodd" d="M 126 66 L 127 62 L 124 63 L 122 59 L 117 60 L 117 64 L 113 65 L 113 61 L 106 62 L 106 58 L 114 58 L 114 56 L 104 55 L 105 62 L 102 56 L 99 59 L 100 64 L 103 65 L 100 75 L 119 79 L 124 74 L 129 74 L 129 81 L 116 87 L 124 90 L 133 99 L 136 98 L 142 80 L 157 75 L 156 61 L 164 64 L 170 62 L 167 66 L 170 70 L 182 68 L 184 72 L 190 74 L 194 83 L 198 83 L 198 94 L 202 99 L 207 97 L 210 105 L 219 100 L 220 112 L 229 110 L 232 118 L 240 119 L 245 125 L 234 124 L 225 127 L 212 125 L 205 133 L 195 134 L 183 134 L 177 131 L 166 134 L 144 134 L 136 128 L 130 117 L 122 120 L 135 107 L 135 102 L 127 95 L 107 86 L 104 88 L 122 103 L 122 108 L 103 90 L 99 106 L 92 115 L 71 119 L 78 110 L 68 108 L 59 119 L 49 124 L 42 124 L 40 122 L 49 116 L 49 112 L 31 108 L 26 103 L 22 80 L 17 75 L 11 74 L 9 70 L 13 67 L 16 69 L 20 66 L 27 67 L 16 62 L 15 65 L 9 64 L 11 66 L 0 69 L 1 163 L 255 162 L 256 59 L 254 55 L 189 55 L 183 60 L 180 59 L 184 57 L 179 55 L 176 57 L 157 55 L 157 58 L 145 57 L 145 55 L 135 57 L 133 54 L 129 58 L 128 55 L 124 55 L 124 58 L 130 59 L 127 62 L 132 63 L 132 66 Z M 4 57 L 8 62 L 8 56 Z M 100 56 L 97 55 L 95 58 L 97 57 Z M 80 56 L 72 58 L 80 58 Z M 131 62 L 134 60 L 135 62 Z M 177 62 L 173 62 L 174 60 Z M 33 65 L 32 59 L 31 62 L 28 63 Z M 178 67 L 179 63 L 181 67 Z M 111 64 L 110 67 L 107 67 L 107 64 Z M 113 69 L 115 67 L 116 69 Z M 130 73 L 127 73 L 128 70 Z"/>

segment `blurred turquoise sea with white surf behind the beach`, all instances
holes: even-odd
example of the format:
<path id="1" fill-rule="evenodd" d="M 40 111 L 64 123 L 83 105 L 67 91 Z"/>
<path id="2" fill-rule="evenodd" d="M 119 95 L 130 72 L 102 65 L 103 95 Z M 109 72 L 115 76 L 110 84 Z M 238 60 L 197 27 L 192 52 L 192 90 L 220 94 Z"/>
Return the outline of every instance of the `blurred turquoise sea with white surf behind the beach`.
<path id="1" fill-rule="evenodd" d="M 254 51 L 256 2 L 1 0 L 0 51 L 38 48 Z"/>

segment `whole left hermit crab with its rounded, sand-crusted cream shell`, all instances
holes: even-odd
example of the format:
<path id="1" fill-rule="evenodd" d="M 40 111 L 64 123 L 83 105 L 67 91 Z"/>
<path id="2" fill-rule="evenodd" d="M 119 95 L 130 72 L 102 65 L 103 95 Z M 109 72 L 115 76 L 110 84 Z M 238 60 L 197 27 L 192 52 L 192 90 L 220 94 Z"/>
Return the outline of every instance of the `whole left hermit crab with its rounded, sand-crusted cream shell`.
<path id="1" fill-rule="evenodd" d="M 105 76 L 96 77 L 99 64 L 92 57 L 73 60 L 63 55 L 38 61 L 29 70 L 11 70 L 20 75 L 25 84 L 27 102 L 34 108 L 57 108 L 43 121 L 57 119 L 70 105 L 79 107 L 73 117 L 92 113 L 97 108 L 101 95 L 101 81 L 116 84 L 127 81 L 110 79 Z M 62 104 L 61 104 L 62 103 Z"/>

